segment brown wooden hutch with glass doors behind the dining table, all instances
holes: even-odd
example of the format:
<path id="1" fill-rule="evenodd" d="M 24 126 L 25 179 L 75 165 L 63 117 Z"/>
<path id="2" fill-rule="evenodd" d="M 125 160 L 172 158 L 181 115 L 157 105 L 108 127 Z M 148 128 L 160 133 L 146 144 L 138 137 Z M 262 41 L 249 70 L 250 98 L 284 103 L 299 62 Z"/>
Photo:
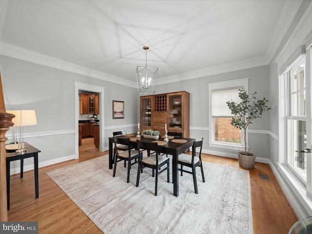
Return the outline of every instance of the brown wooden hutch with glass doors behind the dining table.
<path id="1" fill-rule="evenodd" d="M 190 94 L 186 91 L 142 96 L 140 98 L 140 131 L 153 129 L 165 134 L 183 133 L 190 137 Z"/>

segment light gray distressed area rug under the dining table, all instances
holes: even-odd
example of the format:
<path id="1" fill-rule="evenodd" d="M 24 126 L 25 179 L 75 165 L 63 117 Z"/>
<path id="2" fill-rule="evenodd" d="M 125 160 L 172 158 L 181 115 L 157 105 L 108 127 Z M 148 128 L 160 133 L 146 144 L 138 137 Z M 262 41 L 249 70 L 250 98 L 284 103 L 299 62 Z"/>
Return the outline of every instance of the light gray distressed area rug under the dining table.
<path id="1" fill-rule="evenodd" d="M 130 183 L 123 162 L 113 177 L 108 156 L 47 174 L 105 234 L 253 234 L 249 171 L 208 162 L 203 166 L 205 183 L 196 170 L 198 194 L 192 175 L 184 173 L 178 197 L 166 172 L 158 177 L 157 196 L 151 169 L 144 169 L 139 187 L 137 164 Z"/>

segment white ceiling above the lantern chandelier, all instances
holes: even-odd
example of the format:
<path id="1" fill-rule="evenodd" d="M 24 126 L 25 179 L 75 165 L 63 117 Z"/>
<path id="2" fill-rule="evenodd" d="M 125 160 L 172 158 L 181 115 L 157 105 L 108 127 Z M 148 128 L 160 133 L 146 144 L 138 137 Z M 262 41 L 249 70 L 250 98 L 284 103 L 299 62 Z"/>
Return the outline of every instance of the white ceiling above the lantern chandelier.
<path id="1" fill-rule="evenodd" d="M 192 78 L 268 64 L 298 2 L 4 0 L 0 41 L 130 82 L 147 45 L 159 78 Z"/>

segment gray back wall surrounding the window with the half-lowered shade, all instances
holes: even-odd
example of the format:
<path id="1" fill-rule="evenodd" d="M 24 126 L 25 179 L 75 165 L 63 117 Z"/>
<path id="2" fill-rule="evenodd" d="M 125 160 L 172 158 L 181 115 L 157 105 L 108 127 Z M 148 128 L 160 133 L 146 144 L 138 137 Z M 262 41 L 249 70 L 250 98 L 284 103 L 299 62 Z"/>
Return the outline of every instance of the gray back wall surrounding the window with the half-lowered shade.
<path id="1" fill-rule="evenodd" d="M 256 91 L 257 97 L 270 97 L 269 88 L 269 66 L 260 66 L 235 72 L 228 72 L 208 77 L 189 79 L 166 85 L 157 85 L 156 93 L 168 93 L 185 90 L 190 93 L 190 137 L 200 139 L 204 137 L 203 152 L 218 154 L 220 156 L 231 156 L 237 158 L 237 151 L 224 150 L 208 147 L 208 83 L 233 80 L 239 78 L 249 79 L 249 92 Z M 270 100 L 270 99 L 269 99 Z M 269 102 L 269 106 L 271 102 Z M 257 154 L 257 161 L 270 158 L 270 135 L 263 130 L 270 128 L 270 113 L 265 113 L 250 125 L 255 130 L 249 135 L 250 152 Z M 260 131 L 259 131 L 260 130 Z M 261 131 L 262 130 L 262 131 Z M 259 144 L 261 142 L 262 144 Z M 265 145 L 266 147 L 263 147 Z"/>

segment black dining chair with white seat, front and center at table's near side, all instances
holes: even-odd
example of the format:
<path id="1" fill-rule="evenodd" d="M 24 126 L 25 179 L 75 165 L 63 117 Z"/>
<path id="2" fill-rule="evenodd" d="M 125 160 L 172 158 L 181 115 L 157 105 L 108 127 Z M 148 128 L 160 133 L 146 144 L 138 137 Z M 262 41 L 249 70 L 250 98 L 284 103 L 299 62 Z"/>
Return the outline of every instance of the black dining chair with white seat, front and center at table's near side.
<path id="1" fill-rule="evenodd" d="M 155 176 L 155 195 L 157 195 L 157 183 L 158 175 L 167 171 L 167 182 L 170 182 L 170 161 L 168 157 L 158 155 L 158 144 L 156 142 L 144 142 L 137 139 L 137 150 L 147 150 L 148 157 L 142 157 L 142 154 L 139 157 L 138 168 L 137 168 L 137 187 L 140 180 L 140 173 L 143 172 L 144 168 L 151 168 L 153 170 L 152 176 Z M 150 155 L 150 151 L 156 152 L 153 155 Z M 166 165 L 167 164 L 167 165 Z M 161 169 L 162 166 L 166 165 L 165 168 Z"/>

